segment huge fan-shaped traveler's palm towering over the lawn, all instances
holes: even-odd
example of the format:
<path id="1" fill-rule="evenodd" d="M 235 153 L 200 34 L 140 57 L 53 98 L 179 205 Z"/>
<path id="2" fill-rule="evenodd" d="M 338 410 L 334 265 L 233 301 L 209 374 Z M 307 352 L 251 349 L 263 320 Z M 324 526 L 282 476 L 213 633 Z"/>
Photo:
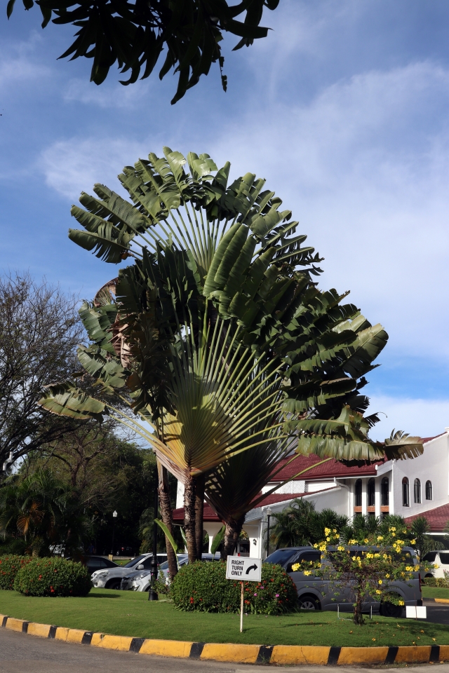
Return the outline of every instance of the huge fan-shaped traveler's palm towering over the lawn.
<path id="1" fill-rule="evenodd" d="M 72 215 L 83 230 L 69 237 L 133 264 L 80 312 L 92 343 L 79 360 L 103 397 L 66 382 L 41 400 L 78 418 L 112 414 L 152 444 L 185 483 L 191 558 L 195 479 L 244 452 L 267 451 L 269 465 L 292 437 L 297 451 L 345 461 L 422 451 L 416 437 L 368 437 L 377 419 L 363 416 L 358 391 L 384 329 L 345 295 L 318 290 L 320 258 L 291 212 L 253 174 L 228 185 L 229 168 L 165 148 L 119 175 L 132 203 L 99 184 L 81 194 Z"/>

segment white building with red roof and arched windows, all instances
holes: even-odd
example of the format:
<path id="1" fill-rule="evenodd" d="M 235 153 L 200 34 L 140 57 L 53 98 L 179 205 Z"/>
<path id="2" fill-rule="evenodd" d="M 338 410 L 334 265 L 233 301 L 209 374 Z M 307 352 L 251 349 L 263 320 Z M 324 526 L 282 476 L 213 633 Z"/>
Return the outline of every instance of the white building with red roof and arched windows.
<path id="1" fill-rule="evenodd" d="M 326 508 L 351 519 L 355 514 L 380 517 L 401 515 L 407 522 L 425 515 L 433 535 L 443 535 L 449 519 L 449 428 L 436 437 L 424 437 L 422 456 L 405 461 L 377 461 L 363 467 L 346 467 L 333 459 L 322 462 L 317 456 L 297 456 L 279 471 L 262 493 L 290 479 L 274 494 L 268 495 L 246 515 L 250 556 L 264 556 L 262 532 L 276 512 L 288 507 L 294 498 L 313 501 L 317 511 Z M 287 463 L 287 459 L 283 461 Z M 307 472 L 295 477 L 303 470 Z M 182 521 L 182 491 L 178 489 L 175 520 Z M 222 522 L 210 505 L 204 507 L 204 529 L 209 539 L 220 530 Z M 244 545 L 248 552 L 248 543 Z"/>

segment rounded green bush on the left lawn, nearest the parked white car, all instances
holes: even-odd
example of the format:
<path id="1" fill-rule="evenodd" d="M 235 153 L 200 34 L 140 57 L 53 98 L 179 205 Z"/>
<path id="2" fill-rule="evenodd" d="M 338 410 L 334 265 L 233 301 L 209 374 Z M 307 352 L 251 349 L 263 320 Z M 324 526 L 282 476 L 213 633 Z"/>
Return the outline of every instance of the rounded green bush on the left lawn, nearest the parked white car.
<path id="1" fill-rule="evenodd" d="M 15 576 L 14 588 L 27 596 L 87 596 L 86 566 L 65 559 L 33 559 Z"/>

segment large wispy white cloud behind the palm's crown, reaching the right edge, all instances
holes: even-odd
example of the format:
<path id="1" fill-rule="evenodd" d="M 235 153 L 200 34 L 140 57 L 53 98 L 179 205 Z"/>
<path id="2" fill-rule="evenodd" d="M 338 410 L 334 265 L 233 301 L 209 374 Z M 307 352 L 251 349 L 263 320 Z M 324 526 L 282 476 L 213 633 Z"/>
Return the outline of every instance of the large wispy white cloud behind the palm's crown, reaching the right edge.
<path id="1" fill-rule="evenodd" d="M 351 290 L 404 357 L 449 356 L 448 103 L 449 72 L 420 62 L 337 82 L 309 104 L 250 100 L 246 117 L 216 120 L 201 139 L 217 163 L 232 161 L 234 177 L 267 177 L 326 258 L 321 285 Z M 71 198 L 93 182 L 112 186 L 149 150 L 182 150 L 174 132 L 55 143 L 43 153 L 46 181 Z M 185 125 L 182 146 L 197 145 Z"/>

